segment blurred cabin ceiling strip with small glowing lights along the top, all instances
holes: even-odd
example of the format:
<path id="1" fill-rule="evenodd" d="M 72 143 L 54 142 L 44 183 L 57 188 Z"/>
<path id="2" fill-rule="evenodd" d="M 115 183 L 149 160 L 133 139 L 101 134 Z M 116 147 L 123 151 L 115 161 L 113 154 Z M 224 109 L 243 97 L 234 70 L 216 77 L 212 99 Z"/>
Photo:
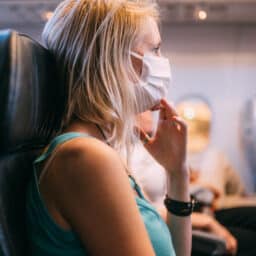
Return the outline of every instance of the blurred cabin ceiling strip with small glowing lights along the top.
<path id="1" fill-rule="evenodd" d="M 0 0 L 0 27 L 37 26 L 60 0 Z M 159 0 L 165 24 L 253 24 L 256 0 Z"/>

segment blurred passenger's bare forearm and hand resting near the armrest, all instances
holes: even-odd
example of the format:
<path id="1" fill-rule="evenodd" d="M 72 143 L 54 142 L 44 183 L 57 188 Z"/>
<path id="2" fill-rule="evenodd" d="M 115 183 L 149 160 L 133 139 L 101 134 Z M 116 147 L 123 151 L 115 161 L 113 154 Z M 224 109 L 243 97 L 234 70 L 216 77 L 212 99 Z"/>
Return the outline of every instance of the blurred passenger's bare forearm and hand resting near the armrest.
<path id="1" fill-rule="evenodd" d="M 203 229 L 217 235 L 226 242 L 226 249 L 234 255 L 237 251 L 237 240 L 233 235 L 222 226 L 217 220 L 203 213 L 192 214 L 192 227 L 195 229 Z"/>

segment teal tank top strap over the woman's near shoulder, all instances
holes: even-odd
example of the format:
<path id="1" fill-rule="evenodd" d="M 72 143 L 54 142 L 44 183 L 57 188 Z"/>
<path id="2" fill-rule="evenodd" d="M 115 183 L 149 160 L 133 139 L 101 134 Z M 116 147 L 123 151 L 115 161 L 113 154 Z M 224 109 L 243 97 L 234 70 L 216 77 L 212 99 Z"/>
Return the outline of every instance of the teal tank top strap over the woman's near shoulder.
<path id="1" fill-rule="evenodd" d="M 44 161 L 45 159 L 47 159 L 51 153 L 55 150 L 55 148 L 68 141 L 68 140 L 71 140 L 71 139 L 75 139 L 75 138 L 78 138 L 78 137 L 91 137 L 89 134 L 87 133 L 81 133 L 81 132 L 67 132 L 67 133 L 63 133 L 57 137 L 55 137 L 51 143 L 49 144 L 49 146 L 46 148 L 45 152 L 43 154 L 41 154 L 35 161 L 34 161 L 34 164 L 38 164 L 42 161 Z"/>

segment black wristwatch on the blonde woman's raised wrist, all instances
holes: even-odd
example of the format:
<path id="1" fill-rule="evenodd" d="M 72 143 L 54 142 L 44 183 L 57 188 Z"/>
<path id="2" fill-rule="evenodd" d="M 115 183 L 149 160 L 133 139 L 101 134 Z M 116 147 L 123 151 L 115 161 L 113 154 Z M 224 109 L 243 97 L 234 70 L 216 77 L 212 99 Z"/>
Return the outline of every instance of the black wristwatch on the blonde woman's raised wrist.
<path id="1" fill-rule="evenodd" d="M 167 195 L 164 199 L 164 205 L 168 212 L 180 217 L 191 215 L 196 205 L 196 200 L 192 197 L 190 202 L 182 202 L 169 198 Z"/>

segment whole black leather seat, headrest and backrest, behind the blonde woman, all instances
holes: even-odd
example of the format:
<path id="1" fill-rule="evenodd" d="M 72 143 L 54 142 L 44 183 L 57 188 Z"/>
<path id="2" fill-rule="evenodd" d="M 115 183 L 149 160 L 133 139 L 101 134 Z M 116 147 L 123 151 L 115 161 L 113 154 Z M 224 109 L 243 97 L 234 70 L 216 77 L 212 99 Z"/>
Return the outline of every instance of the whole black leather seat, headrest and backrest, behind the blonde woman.
<path id="1" fill-rule="evenodd" d="M 0 31 L 0 247 L 27 256 L 25 196 L 32 162 L 59 130 L 65 105 L 52 55 L 31 38 Z"/>

